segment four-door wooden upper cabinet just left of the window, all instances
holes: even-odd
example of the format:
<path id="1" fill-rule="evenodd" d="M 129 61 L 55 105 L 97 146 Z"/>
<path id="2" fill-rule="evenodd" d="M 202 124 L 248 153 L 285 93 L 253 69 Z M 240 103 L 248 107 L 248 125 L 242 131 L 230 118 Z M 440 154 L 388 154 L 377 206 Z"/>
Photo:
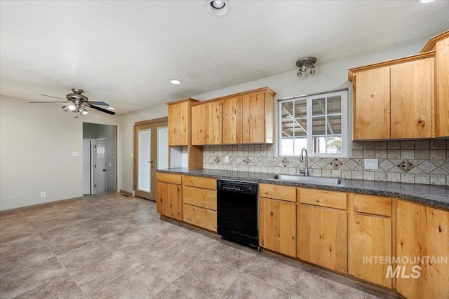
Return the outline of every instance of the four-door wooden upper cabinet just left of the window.
<path id="1" fill-rule="evenodd" d="M 261 88 L 192 104 L 192 145 L 272 144 L 274 95 Z"/>

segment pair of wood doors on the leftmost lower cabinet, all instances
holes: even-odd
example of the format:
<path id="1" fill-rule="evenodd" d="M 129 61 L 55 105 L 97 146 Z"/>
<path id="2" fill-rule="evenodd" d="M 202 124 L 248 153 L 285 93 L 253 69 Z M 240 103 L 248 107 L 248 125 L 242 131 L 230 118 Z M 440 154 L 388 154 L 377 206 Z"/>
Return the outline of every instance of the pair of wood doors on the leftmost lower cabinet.
<path id="1" fill-rule="evenodd" d="M 182 220 L 182 186 L 157 182 L 157 212 L 163 216 Z"/>

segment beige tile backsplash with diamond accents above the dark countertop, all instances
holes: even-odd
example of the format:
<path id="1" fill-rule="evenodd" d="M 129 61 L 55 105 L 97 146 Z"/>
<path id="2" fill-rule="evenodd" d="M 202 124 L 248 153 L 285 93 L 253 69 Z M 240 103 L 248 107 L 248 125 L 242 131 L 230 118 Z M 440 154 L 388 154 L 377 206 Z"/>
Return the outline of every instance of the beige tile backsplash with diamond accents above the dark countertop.
<path id="1" fill-rule="evenodd" d="M 373 158 L 378 159 L 379 169 L 365 169 L 363 159 Z M 276 157 L 274 145 L 203 146 L 203 168 L 300 174 L 304 162 Z M 352 142 L 351 158 L 309 158 L 309 172 L 312 176 L 449 186 L 449 139 Z"/>

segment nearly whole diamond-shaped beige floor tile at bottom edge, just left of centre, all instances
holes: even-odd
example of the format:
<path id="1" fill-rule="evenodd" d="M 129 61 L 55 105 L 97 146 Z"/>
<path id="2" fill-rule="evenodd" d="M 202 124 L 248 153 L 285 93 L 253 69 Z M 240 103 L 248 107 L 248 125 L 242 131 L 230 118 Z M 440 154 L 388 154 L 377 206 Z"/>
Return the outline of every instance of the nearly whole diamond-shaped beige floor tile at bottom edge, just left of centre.
<path id="1" fill-rule="evenodd" d="M 194 298 L 220 298 L 240 273 L 213 260 L 200 260 L 173 284 Z"/>

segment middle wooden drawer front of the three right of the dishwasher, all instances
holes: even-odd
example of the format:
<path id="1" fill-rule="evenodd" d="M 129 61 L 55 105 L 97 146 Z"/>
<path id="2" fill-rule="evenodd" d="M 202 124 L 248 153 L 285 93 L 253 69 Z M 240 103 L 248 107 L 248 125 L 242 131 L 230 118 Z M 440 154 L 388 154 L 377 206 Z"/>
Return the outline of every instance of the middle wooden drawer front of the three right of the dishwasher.
<path id="1" fill-rule="evenodd" d="M 305 188 L 297 189 L 298 200 L 302 204 L 313 204 L 315 206 L 335 209 L 347 208 L 347 194 L 344 192 Z"/>

